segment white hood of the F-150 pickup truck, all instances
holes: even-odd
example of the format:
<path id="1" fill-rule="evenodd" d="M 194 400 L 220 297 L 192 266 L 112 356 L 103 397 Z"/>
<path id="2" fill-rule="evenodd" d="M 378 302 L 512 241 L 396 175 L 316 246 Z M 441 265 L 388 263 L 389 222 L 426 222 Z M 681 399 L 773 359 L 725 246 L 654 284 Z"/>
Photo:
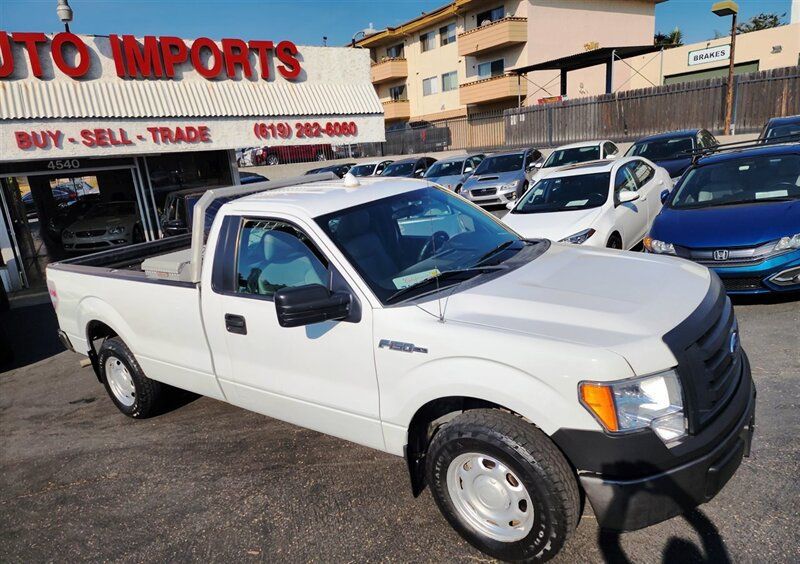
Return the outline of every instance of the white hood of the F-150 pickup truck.
<path id="1" fill-rule="evenodd" d="M 607 349 L 648 374 L 675 365 L 662 336 L 700 305 L 711 276 L 674 257 L 552 244 L 530 263 L 454 293 L 445 321 Z"/>

